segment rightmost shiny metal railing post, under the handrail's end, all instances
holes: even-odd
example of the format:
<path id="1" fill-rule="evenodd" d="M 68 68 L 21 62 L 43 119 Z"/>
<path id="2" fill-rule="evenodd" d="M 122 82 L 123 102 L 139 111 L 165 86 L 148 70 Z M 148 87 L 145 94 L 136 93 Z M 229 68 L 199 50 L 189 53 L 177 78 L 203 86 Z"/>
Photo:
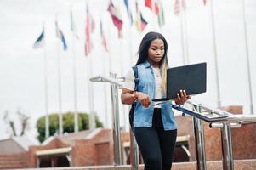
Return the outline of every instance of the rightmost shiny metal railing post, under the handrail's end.
<path id="1" fill-rule="evenodd" d="M 223 127 L 221 128 L 221 144 L 223 169 L 234 170 L 230 122 L 223 122 Z"/>

